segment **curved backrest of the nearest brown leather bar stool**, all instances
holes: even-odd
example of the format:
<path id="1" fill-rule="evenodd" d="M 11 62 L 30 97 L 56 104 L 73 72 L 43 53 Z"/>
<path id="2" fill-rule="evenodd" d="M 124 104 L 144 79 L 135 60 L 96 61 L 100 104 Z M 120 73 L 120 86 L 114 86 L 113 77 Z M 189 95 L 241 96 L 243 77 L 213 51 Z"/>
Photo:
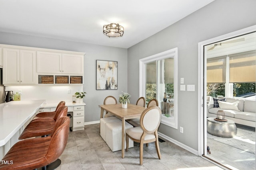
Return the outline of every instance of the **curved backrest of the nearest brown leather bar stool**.
<path id="1" fill-rule="evenodd" d="M 60 117 L 54 126 L 52 131 L 50 146 L 46 154 L 46 159 L 49 164 L 57 160 L 63 153 L 69 134 L 70 118 L 67 116 Z"/>

